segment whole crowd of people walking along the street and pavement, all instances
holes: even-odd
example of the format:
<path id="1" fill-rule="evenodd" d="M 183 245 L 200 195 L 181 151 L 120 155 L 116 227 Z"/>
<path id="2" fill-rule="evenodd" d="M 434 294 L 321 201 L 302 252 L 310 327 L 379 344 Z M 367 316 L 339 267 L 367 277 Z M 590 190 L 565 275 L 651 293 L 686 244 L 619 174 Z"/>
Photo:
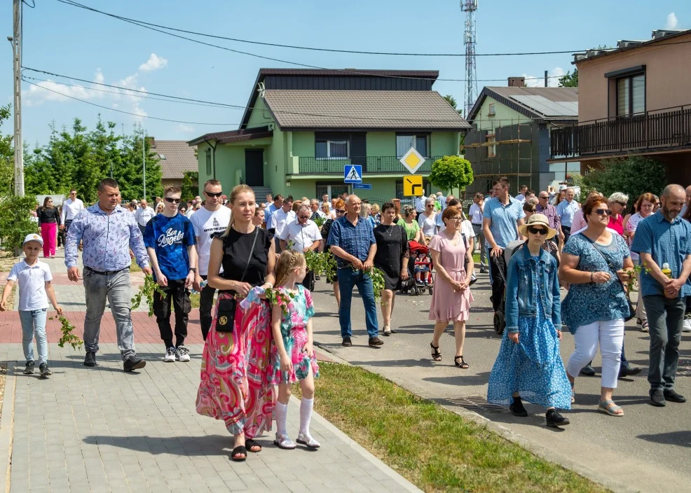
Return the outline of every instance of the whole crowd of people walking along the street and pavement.
<path id="1" fill-rule="evenodd" d="M 261 445 L 254 438 L 271 429 L 274 419 L 278 447 L 320 447 L 309 427 L 313 380 L 319 375 L 311 291 L 322 272 L 308 270 L 310 251 L 327 252 L 336 262 L 335 272 L 325 281 L 333 285 L 343 347 L 353 345 L 350 312 L 356 286 L 364 305 L 368 345 L 381 347 L 380 334 L 396 333 L 396 293 L 418 282 L 434 288 L 428 315 L 434 321 L 432 360 L 442 361 L 439 340 L 451 322 L 456 339 L 453 363 L 462 370 L 470 368 L 464 356 L 465 331 L 477 268 L 488 272 L 495 329 L 502 334 L 488 401 L 508 405 L 516 416 L 528 415 L 523 401 L 542 405 L 548 426 L 568 424 L 559 411 L 575 402 L 575 380 L 592 374 L 591 360 L 599 347 L 597 410 L 622 417 L 624 410 L 613 400 L 617 380 L 641 371 L 624 354 L 624 322 L 636 317 L 641 330 L 650 333 L 650 403 L 685 402 L 674 390 L 674 381 L 691 295 L 691 187 L 669 185 L 659 198 L 645 193 L 637 197 L 631 214 L 625 214 L 629 197 L 623 193 L 604 197 L 592 192 L 579 204 L 573 188 L 535 196 L 522 187 L 513 197 L 504 177 L 493 183 L 488 197 L 474 195 L 468 214 L 456 197 L 441 193 L 418 197 L 404 207 L 397 200 L 380 207 L 348 194 L 332 199 L 324 195 L 322 200 L 268 195 L 266 202 L 258 203 L 249 186 L 235 186 L 226 196 L 219 181 L 209 180 L 203 184 L 203 199 L 184 204 L 181 195 L 179 187 L 167 186 L 154 207 L 146 200 L 122 207 L 118 183 L 104 179 L 99 200 L 90 207 L 84 207 L 76 192 L 59 213 L 51 212 L 52 201 L 46 199 L 39 214 L 41 235 L 27 237 L 26 259 L 15 265 L 7 285 L 20 285 L 26 373 L 34 371 L 34 334 L 41 374 L 44 366 L 46 375 L 50 371 L 45 312 L 49 300 L 58 312 L 62 308 L 50 286 L 50 269 L 38 256 L 41 247 L 44 256 L 54 256 L 55 246 L 46 244 L 60 228 L 67 233 L 69 279 L 83 278 L 85 287 L 85 366 L 97 366 L 107 300 L 123 369 L 146 365 L 134 345 L 131 258 L 158 284 L 153 313 L 165 345 L 163 361 L 189 361 L 184 341 L 190 293 L 200 293 L 205 347 L 196 406 L 200 414 L 222 419 L 233 434 L 233 460 L 259 452 Z M 77 266 L 81 245 L 83 272 Z M 416 245 L 428 250 L 433 279 L 413 279 L 419 274 L 418 263 L 412 261 Z M 473 258 L 476 246 L 481 251 L 479 266 Z M 371 275 L 375 267 L 384 284 L 381 331 Z M 640 284 L 635 310 L 629 300 L 634 277 Z M 3 310 L 8 308 L 7 286 L 0 303 Z M 567 292 L 562 299 L 563 290 Z M 566 364 L 559 349 L 562 330 L 572 333 L 575 342 Z M 286 419 L 290 385 L 295 382 L 300 382 L 303 398 L 294 442 Z"/>

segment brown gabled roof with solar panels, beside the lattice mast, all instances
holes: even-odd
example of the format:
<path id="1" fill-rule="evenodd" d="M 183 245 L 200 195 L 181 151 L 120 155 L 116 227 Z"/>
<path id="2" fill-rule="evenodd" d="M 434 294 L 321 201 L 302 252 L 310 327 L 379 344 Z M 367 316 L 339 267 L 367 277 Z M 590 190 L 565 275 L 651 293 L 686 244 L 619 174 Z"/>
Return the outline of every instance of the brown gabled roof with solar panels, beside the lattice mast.
<path id="1" fill-rule="evenodd" d="M 470 111 L 468 121 L 477 118 L 486 97 L 518 111 L 528 118 L 577 120 L 578 88 L 485 87 Z M 549 104 L 553 103 L 553 104 Z M 561 104 L 560 104 L 561 103 Z"/>

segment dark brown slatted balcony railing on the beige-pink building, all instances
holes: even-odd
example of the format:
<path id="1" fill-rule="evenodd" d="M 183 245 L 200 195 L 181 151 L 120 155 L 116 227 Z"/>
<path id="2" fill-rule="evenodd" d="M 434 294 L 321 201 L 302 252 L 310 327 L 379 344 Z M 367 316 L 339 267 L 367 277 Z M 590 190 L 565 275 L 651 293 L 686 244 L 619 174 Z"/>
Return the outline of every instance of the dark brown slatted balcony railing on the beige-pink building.
<path id="1" fill-rule="evenodd" d="M 551 154 L 576 157 L 691 144 L 691 106 L 553 128 Z"/>

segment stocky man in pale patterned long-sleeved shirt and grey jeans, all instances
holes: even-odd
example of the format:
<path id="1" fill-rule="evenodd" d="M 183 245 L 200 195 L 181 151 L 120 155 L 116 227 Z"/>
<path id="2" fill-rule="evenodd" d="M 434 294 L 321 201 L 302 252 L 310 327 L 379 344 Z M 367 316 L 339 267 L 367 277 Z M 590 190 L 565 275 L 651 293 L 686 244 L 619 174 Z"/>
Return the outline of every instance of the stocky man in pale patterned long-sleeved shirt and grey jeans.
<path id="1" fill-rule="evenodd" d="M 142 232 L 134 216 L 120 207 L 120 187 L 114 179 L 98 185 L 98 202 L 83 209 L 72 221 L 64 246 L 64 265 L 70 281 L 80 278 L 77 267 L 77 245 L 84 242 L 84 366 L 96 366 L 101 318 L 108 299 L 118 335 L 118 347 L 125 371 L 144 368 L 146 361 L 137 358 L 130 314 L 130 249 L 144 274 L 151 274 L 149 256 Z"/>

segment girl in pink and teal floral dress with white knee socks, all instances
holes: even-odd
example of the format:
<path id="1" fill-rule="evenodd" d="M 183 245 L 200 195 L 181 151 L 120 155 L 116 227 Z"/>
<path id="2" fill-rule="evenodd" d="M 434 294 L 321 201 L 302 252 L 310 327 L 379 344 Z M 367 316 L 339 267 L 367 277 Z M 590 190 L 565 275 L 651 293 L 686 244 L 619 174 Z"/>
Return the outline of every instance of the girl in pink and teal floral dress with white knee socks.
<path id="1" fill-rule="evenodd" d="M 275 408 L 276 439 L 273 443 L 282 449 L 294 449 L 288 437 L 286 421 L 290 385 L 300 382 L 300 430 L 296 442 L 310 449 L 320 443 L 310 435 L 310 419 L 314 407 L 314 379 L 319 377 L 319 366 L 313 348 L 312 295 L 299 283 L 307 274 L 305 256 L 298 251 L 286 250 L 276 264 L 276 296 L 271 317 L 273 347 L 271 348 L 271 381 L 278 385 Z"/>

